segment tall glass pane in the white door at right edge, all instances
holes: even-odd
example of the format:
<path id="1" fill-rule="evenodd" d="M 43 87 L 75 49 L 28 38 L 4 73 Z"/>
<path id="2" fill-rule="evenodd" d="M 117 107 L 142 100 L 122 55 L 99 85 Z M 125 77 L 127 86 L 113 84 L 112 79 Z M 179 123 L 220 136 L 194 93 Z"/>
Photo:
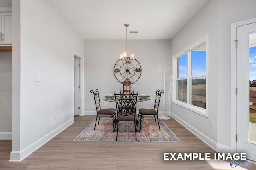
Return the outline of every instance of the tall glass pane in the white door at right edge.
<path id="1" fill-rule="evenodd" d="M 256 141 L 256 33 L 249 35 L 249 140 Z"/>

